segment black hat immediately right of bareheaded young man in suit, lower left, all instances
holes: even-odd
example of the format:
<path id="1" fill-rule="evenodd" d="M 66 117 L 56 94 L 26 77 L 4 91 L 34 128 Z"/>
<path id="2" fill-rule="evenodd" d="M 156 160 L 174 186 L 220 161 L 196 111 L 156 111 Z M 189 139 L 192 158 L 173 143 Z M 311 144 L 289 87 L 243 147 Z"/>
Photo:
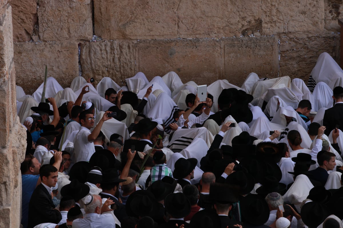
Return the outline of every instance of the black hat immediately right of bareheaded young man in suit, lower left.
<path id="1" fill-rule="evenodd" d="M 73 179 L 69 184 L 61 188 L 61 196 L 71 196 L 75 202 L 79 201 L 89 193 L 89 186 Z"/>

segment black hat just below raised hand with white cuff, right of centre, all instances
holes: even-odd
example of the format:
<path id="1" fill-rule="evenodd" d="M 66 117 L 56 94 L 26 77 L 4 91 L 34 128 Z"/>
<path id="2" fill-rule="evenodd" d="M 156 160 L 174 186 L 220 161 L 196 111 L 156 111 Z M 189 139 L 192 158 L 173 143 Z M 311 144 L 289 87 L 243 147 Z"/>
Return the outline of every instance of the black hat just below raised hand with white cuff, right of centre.
<path id="1" fill-rule="evenodd" d="M 248 194 L 255 186 L 254 178 L 249 173 L 243 171 L 231 173 L 228 177 L 226 177 L 225 183 L 238 185 L 239 195 Z"/>

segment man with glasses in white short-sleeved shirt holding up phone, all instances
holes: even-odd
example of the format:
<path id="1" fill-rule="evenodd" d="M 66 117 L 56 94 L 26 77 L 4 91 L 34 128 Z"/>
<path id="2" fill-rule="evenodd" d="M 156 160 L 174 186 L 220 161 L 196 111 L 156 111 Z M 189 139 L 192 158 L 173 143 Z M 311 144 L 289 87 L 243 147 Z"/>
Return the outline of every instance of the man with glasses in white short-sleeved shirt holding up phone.
<path id="1" fill-rule="evenodd" d="M 74 138 L 74 153 L 76 156 L 76 161 L 89 161 L 93 153 L 95 152 L 93 141 L 99 135 L 101 127 L 106 120 L 111 119 L 107 114 L 111 113 L 106 111 L 103 117 L 100 119 L 99 123 L 95 126 L 94 130 L 91 132 L 91 129 L 94 127 L 95 118 L 91 112 L 82 111 L 80 113 L 80 130 L 76 133 Z"/>

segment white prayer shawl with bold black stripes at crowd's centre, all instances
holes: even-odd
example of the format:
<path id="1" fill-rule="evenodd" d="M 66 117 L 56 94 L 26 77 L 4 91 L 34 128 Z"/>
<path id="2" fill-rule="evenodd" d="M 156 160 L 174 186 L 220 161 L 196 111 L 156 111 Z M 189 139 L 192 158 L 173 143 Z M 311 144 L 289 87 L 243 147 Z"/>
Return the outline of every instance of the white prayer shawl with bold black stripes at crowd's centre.
<path id="1" fill-rule="evenodd" d="M 202 138 L 208 147 L 211 146 L 214 139 L 213 135 L 204 127 L 178 129 L 171 137 L 167 148 L 179 152 L 188 147 L 195 138 Z"/>

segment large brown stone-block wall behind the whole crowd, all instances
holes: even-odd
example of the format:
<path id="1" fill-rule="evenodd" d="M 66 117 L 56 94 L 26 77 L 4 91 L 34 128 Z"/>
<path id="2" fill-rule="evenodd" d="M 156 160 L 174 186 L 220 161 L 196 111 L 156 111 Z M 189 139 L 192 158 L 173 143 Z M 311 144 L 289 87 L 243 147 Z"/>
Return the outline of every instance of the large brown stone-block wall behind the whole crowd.
<path id="1" fill-rule="evenodd" d="M 340 61 L 342 0 L 10 4 L 17 84 L 30 94 L 43 82 L 45 64 L 63 87 L 79 74 L 121 84 L 138 71 L 152 79 L 170 70 L 183 82 L 240 86 L 250 72 L 307 81 L 322 52 Z"/>

